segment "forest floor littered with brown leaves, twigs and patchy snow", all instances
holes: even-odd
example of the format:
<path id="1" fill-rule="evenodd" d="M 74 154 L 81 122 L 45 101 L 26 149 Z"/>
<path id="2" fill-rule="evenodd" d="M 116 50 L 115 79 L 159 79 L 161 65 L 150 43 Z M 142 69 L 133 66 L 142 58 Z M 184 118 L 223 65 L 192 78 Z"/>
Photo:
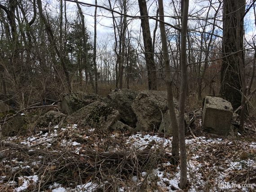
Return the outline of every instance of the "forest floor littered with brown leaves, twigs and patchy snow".
<path id="1" fill-rule="evenodd" d="M 226 139 L 203 133 L 200 121 L 192 129 L 196 139 L 187 132 L 185 140 L 189 181 L 185 191 L 256 191 L 255 124 L 247 122 L 247 135 Z M 152 140 L 155 143 L 141 164 L 136 154 Z M 0 191 L 181 191 L 180 168 L 171 161 L 172 137 L 162 134 L 73 124 L 3 142 L 18 145 L 1 147 Z M 101 152 L 113 154 L 103 157 Z M 244 187 L 245 183 L 251 186 Z"/>

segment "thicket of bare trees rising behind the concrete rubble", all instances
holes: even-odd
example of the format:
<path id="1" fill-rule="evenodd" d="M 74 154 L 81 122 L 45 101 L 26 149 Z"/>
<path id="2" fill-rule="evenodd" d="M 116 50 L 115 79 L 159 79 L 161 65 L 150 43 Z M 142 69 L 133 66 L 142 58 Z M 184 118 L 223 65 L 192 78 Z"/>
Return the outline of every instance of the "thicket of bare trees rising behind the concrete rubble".
<path id="1" fill-rule="evenodd" d="M 197 1 L 189 9 L 189 0 L 0 0 L 2 97 L 24 108 L 78 90 L 167 89 L 176 127 L 172 153 L 180 145 L 185 188 L 187 96 L 225 97 L 240 110 L 243 131 L 246 103 L 256 92 L 255 1 Z M 93 31 L 84 6 L 94 7 Z M 104 16 L 111 32 L 99 36 Z M 173 96 L 180 98 L 178 122 Z"/>

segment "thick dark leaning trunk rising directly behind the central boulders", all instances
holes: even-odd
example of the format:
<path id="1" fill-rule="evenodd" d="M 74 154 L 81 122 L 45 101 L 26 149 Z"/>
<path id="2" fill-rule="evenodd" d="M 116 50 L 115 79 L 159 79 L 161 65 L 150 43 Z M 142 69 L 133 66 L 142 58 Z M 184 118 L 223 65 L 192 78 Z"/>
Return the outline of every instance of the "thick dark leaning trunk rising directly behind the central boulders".
<path id="1" fill-rule="evenodd" d="M 146 0 L 138 0 L 141 16 L 148 16 Z M 148 18 L 141 18 L 149 90 L 157 90 L 156 68 Z"/>

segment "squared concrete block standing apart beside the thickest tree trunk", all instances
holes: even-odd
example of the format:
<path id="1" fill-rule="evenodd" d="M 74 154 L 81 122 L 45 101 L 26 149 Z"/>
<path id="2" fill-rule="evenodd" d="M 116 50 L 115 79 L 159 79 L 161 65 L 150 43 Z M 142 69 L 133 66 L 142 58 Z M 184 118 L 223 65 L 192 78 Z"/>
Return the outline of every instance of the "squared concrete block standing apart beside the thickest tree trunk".
<path id="1" fill-rule="evenodd" d="M 231 103 L 220 97 L 205 96 L 203 130 L 217 135 L 229 135 L 233 116 Z"/>

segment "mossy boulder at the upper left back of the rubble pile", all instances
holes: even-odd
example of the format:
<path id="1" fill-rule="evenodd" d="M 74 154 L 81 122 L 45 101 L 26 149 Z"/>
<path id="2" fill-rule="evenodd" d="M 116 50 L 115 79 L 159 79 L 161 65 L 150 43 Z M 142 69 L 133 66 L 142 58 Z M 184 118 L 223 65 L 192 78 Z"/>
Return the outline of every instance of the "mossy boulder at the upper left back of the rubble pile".
<path id="1" fill-rule="evenodd" d="M 95 101 L 101 101 L 102 97 L 97 94 L 85 92 L 74 92 L 62 98 L 61 109 L 63 113 L 72 114 Z"/>

